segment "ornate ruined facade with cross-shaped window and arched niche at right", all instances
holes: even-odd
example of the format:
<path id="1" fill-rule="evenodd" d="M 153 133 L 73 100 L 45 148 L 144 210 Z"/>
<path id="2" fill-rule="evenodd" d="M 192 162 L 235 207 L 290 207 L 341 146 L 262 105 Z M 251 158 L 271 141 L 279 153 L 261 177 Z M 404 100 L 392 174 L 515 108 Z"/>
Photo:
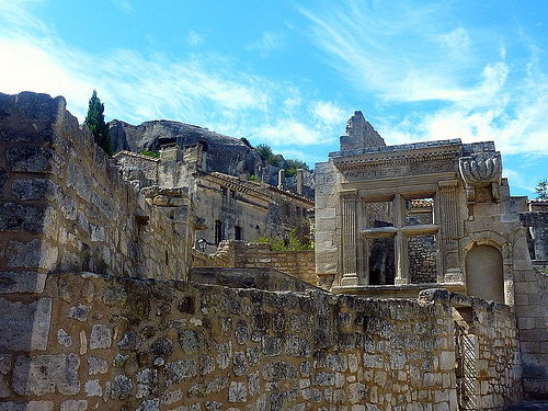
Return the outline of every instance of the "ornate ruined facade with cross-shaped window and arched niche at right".
<path id="1" fill-rule="evenodd" d="M 356 112 L 341 150 L 316 167 L 319 284 L 375 297 L 443 287 L 512 306 L 526 391 L 546 392 L 547 279 L 534 267 L 545 206 L 510 195 L 493 142 L 386 146 Z"/>

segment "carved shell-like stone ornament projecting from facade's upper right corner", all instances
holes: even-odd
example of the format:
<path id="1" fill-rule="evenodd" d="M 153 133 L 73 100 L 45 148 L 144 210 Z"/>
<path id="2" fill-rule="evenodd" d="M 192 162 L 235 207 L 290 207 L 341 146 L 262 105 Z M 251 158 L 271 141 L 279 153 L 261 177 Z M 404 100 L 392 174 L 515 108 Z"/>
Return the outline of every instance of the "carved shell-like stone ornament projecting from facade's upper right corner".
<path id="1" fill-rule="evenodd" d="M 500 152 L 478 152 L 470 157 L 461 157 L 458 161 L 458 168 L 465 181 L 466 197 L 469 204 L 476 203 L 477 187 L 491 186 L 493 199 L 501 201 L 502 160 Z"/>

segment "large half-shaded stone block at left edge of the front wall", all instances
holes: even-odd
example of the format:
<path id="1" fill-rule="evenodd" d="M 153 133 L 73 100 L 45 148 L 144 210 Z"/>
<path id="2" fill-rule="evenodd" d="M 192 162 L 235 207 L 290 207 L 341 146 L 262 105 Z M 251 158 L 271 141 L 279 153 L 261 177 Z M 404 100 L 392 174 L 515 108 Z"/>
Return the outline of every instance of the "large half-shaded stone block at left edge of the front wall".
<path id="1" fill-rule="evenodd" d="M 45 351 L 50 320 L 50 298 L 31 304 L 0 298 L 0 347 L 7 351 Z"/>

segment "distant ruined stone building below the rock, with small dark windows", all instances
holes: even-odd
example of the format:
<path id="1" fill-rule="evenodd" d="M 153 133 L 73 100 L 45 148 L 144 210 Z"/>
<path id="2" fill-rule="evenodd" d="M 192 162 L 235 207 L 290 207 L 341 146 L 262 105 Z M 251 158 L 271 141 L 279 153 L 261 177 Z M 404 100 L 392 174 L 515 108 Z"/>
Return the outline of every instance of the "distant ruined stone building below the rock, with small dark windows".
<path id="1" fill-rule="evenodd" d="M 171 219 L 192 220 L 190 242 L 195 249 L 214 252 L 224 240 L 288 239 L 292 230 L 309 240 L 311 199 L 284 186 L 212 171 L 205 157 L 199 144 L 163 146 L 158 159 L 130 151 L 114 156 L 124 178 L 150 204 Z"/>

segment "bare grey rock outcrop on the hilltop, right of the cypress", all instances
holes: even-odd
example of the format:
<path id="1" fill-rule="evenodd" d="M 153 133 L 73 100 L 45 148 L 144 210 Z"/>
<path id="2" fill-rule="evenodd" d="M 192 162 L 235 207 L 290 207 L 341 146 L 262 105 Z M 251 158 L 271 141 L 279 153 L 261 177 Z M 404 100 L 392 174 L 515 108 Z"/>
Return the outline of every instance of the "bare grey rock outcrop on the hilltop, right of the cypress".
<path id="1" fill-rule="evenodd" d="M 165 119 L 145 122 L 138 126 L 114 119 L 110 123 L 114 151 L 159 150 L 161 145 L 176 142 L 181 147 L 202 144 L 206 167 L 210 171 L 238 175 L 256 173 L 261 157 L 240 139 L 207 128 Z"/>

